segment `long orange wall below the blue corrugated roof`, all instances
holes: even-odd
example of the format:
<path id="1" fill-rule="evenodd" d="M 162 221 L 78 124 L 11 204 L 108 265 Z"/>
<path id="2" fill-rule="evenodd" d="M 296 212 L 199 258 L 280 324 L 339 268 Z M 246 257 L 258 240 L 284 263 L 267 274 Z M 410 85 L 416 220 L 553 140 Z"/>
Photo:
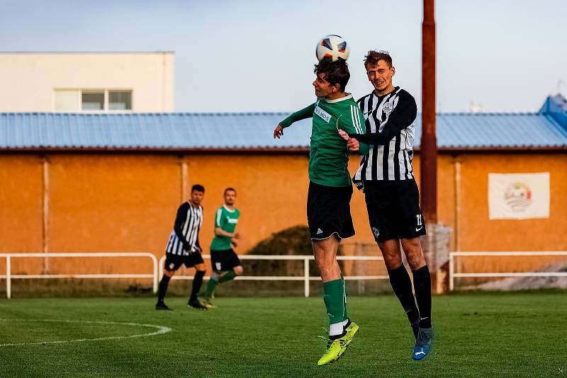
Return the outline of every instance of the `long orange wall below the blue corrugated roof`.
<path id="1" fill-rule="evenodd" d="M 357 166 L 358 158 L 352 156 L 352 173 Z M 414 168 L 419 180 L 419 156 Z M 201 183 L 206 188 L 201 245 L 208 251 L 214 212 L 223 203 L 223 190 L 232 186 L 237 189 L 236 205 L 242 213 L 238 225 L 242 241 L 237 249 L 245 253 L 275 231 L 307 223 L 307 169 L 307 154 L 0 155 L 0 251 L 151 251 L 162 256 L 176 209 L 185 200 L 184 187 Z M 549 219 L 488 219 L 488 173 L 539 171 L 551 173 Z M 454 230 L 451 249 L 567 250 L 565 154 L 442 154 L 438 184 L 439 222 Z M 351 205 L 357 235 L 347 242 L 373 243 L 363 193 L 355 189 Z M 150 267 L 149 263 L 125 260 L 85 261 L 19 260 L 14 261 L 13 270 L 140 273 Z M 534 268 L 549 260 L 460 261 L 463 271 L 493 271 Z M 0 261 L 0 269 L 4 269 L 4 261 Z"/>

